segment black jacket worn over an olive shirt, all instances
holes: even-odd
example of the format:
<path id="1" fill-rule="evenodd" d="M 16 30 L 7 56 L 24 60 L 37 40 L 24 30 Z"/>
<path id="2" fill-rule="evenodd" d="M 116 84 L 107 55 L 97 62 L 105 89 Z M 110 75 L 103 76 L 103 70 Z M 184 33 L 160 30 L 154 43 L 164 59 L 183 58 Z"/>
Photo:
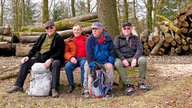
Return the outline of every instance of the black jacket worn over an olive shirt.
<path id="1" fill-rule="evenodd" d="M 64 62 L 63 53 L 64 53 L 64 40 L 58 34 L 55 33 L 53 41 L 51 43 L 51 48 L 48 52 L 40 54 L 41 46 L 46 38 L 46 33 L 40 35 L 38 40 L 35 42 L 31 50 L 28 52 L 27 56 L 31 59 L 36 57 L 40 62 L 45 62 L 47 59 L 57 59 L 61 61 L 61 64 Z"/>

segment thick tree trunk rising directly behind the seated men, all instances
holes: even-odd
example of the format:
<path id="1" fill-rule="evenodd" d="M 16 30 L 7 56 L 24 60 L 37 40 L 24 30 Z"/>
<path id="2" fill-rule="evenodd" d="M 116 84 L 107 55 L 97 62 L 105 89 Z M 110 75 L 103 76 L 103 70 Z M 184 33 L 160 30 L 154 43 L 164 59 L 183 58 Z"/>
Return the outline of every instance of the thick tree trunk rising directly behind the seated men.
<path id="1" fill-rule="evenodd" d="M 99 21 L 112 37 L 119 34 L 116 0 L 97 0 Z"/>

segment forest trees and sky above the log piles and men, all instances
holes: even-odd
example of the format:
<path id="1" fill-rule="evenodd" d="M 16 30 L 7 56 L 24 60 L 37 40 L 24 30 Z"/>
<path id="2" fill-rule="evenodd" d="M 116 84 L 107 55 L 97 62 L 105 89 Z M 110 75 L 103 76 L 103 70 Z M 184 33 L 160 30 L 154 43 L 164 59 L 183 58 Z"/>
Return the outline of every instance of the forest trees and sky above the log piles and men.
<path id="1" fill-rule="evenodd" d="M 22 26 L 41 25 L 47 20 L 62 19 L 98 12 L 99 21 L 112 36 L 119 25 L 130 21 L 141 33 L 161 21 L 156 15 L 173 20 L 174 14 L 191 0 L 1 0 L 0 26 L 11 25 L 20 32 Z M 105 14 L 106 12 L 106 14 Z M 110 16 L 112 15 L 112 16 Z M 106 16 L 106 17 L 105 17 Z M 110 24 L 110 23 L 113 24 Z"/>

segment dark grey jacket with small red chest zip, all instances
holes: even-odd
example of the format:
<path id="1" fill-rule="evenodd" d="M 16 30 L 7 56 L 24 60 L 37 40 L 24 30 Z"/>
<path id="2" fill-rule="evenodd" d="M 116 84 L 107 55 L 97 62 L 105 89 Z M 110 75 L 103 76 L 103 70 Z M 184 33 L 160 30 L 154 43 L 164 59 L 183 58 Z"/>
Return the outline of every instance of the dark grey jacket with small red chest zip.
<path id="1" fill-rule="evenodd" d="M 143 46 L 138 36 L 130 34 L 129 39 L 121 34 L 114 39 L 115 52 L 119 59 L 136 58 L 143 54 Z"/>

